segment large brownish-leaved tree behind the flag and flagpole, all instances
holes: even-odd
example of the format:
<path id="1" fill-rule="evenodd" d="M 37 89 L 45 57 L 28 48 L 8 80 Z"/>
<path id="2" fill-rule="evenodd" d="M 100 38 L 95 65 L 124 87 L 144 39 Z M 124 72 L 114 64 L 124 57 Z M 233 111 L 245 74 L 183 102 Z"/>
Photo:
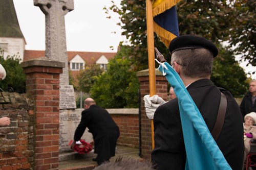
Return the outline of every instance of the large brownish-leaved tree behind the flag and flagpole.
<path id="1" fill-rule="evenodd" d="M 232 2 L 232 0 L 229 2 Z M 230 40 L 230 33 L 232 33 L 230 29 L 237 27 L 233 22 L 236 17 L 233 9 L 233 6 L 225 0 L 181 1 L 177 5 L 179 33 L 180 35 L 203 36 L 214 42 L 221 51 L 222 43 Z M 110 10 L 120 15 L 121 23 L 119 25 L 124 30 L 122 35 L 130 39 L 132 53 L 129 57 L 135 65 L 135 70 L 147 68 L 145 1 L 123 0 L 121 1 L 121 8 L 113 5 Z M 106 10 L 106 13 L 108 13 L 108 10 Z M 169 62 L 168 50 L 156 35 L 155 46 Z M 225 56 L 220 57 L 224 58 Z M 218 70 L 216 71 L 218 72 Z M 233 72 L 228 74 L 232 77 Z M 234 83 L 239 83 L 239 81 L 236 80 Z M 236 86 L 236 84 L 234 85 Z M 242 94 L 243 92 L 238 91 L 238 93 Z"/>

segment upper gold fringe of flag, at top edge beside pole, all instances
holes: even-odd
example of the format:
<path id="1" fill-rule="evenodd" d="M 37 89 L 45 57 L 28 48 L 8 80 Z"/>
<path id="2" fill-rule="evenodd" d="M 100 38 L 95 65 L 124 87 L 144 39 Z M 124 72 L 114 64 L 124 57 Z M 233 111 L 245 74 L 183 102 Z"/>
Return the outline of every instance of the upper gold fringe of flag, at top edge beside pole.
<path id="1" fill-rule="evenodd" d="M 153 0 L 153 17 L 172 8 L 181 0 Z"/>

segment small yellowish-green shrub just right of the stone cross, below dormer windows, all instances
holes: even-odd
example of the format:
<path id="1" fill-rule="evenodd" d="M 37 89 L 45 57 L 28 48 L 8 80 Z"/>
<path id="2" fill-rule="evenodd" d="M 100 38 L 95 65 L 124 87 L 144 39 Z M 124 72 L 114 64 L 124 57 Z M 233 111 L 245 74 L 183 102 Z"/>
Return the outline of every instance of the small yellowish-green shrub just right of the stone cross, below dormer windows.
<path id="1" fill-rule="evenodd" d="M 94 85 L 95 81 L 103 71 L 103 68 L 100 68 L 100 66 L 97 64 L 86 66 L 86 68 L 80 70 L 79 75 L 77 76 L 77 89 L 89 93 L 91 87 Z"/>

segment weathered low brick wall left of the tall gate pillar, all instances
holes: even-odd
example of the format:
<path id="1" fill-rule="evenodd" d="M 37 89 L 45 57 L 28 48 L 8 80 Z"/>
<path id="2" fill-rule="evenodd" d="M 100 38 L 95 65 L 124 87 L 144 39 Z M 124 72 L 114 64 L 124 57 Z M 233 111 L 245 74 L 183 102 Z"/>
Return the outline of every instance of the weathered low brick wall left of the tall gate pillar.
<path id="1" fill-rule="evenodd" d="M 34 111 L 27 94 L 0 93 L 0 117 L 11 125 L 0 127 L 0 169 L 32 169 L 34 164 Z"/>

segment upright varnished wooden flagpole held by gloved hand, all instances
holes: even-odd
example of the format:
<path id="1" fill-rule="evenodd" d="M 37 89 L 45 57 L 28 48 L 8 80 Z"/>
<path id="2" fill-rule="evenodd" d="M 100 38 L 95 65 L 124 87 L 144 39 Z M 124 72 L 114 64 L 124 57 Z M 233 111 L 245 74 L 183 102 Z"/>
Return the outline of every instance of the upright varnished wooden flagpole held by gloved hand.
<path id="1" fill-rule="evenodd" d="M 150 80 L 150 96 L 156 94 L 156 75 L 155 75 L 155 51 L 154 51 L 154 27 L 152 0 L 146 0 L 146 26 L 147 26 L 147 51 L 148 51 L 148 74 Z M 151 139 L 152 149 L 154 149 L 154 124 L 151 119 Z"/>

